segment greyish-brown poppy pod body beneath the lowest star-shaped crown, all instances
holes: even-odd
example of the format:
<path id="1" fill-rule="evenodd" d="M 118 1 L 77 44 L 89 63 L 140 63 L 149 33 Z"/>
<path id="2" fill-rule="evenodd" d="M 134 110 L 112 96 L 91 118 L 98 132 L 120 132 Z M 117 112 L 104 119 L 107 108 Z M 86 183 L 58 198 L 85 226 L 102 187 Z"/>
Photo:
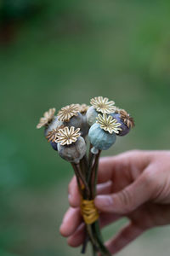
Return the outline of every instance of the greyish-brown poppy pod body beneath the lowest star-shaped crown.
<path id="1" fill-rule="evenodd" d="M 86 154 L 86 143 L 83 137 L 78 137 L 76 143 L 70 145 L 60 145 L 58 143 L 59 156 L 69 162 L 78 163 Z"/>

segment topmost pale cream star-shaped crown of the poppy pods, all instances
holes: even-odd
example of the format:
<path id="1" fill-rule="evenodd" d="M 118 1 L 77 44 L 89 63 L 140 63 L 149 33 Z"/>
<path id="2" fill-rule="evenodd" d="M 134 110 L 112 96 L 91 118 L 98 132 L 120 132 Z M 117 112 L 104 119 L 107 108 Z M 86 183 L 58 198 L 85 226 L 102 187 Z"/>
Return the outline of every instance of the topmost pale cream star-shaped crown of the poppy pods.
<path id="1" fill-rule="evenodd" d="M 94 97 L 91 99 L 90 104 L 101 113 L 112 113 L 115 111 L 115 102 L 109 102 L 108 98 L 104 98 L 102 96 Z"/>

